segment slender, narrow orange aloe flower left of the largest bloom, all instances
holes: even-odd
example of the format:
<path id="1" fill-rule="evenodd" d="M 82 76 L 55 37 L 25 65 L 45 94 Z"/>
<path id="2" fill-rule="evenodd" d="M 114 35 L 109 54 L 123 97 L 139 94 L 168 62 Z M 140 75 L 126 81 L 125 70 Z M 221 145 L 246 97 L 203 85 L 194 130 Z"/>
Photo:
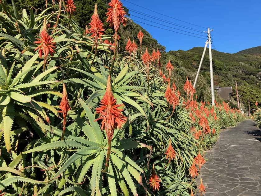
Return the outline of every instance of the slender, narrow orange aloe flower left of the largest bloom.
<path id="1" fill-rule="evenodd" d="M 59 112 L 61 112 L 62 116 L 63 116 L 63 123 L 62 123 L 62 125 L 63 125 L 62 140 L 63 140 L 64 132 L 65 132 L 65 128 L 66 128 L 66 122 L 67 122 L 66 116 L 67 116 L 68 111 L 71 109 L 71 107 L 69 105 L 69 101 L 68 101 L 66 86 L 65 86 L 64 83 L 62 85 L 62 100 L 61 100 L 61 103 L 59 105 L 59 108 L 62 110 L 62 111 L 59 111 Z"/>

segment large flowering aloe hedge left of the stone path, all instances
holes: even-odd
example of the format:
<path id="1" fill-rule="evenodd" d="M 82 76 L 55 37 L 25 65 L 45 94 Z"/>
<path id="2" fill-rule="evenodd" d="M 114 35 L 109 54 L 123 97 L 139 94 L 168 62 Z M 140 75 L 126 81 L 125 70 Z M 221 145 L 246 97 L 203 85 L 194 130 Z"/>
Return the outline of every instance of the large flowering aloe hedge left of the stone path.
<path id="1" fill-rule="evenodd" d="M 1 195 L 194 195 L 204 150 L 237 110 L 198 103 L 188 79 L 177 89 L 160 51 L 129 40 L 118 54 L 118 0 L 115 35 L 96 6 L 82 30 L 72 0 L 39 14 L 0 4 Z"/>

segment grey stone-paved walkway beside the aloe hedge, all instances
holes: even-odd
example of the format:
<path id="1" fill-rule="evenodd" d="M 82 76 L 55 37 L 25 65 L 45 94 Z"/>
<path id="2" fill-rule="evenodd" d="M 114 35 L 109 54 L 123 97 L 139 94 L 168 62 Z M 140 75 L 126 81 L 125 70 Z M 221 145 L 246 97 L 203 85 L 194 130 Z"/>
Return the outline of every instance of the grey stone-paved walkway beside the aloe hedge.
<path id="1" fill-rule="evenodd" d="M 205 158 L 197 182 L 206 196 L 261 196 L 261 132 L 252 120 L 221 131 Z"/>

